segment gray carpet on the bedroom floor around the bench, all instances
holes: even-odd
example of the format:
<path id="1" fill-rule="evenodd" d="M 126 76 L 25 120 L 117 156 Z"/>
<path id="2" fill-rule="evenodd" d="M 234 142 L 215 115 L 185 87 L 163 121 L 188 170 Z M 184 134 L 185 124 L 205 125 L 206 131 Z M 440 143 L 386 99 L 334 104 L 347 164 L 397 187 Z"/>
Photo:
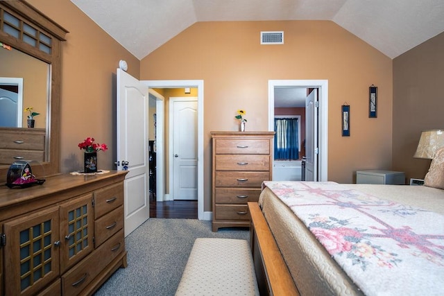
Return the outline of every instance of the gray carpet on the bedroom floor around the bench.
<path id="1" fill-rule="evenodd" d="M 174 295 L 194 240 L 238 238 L 250 241 L 246 228 L 212 232 L 210 221 L 149 218 L 125 238 L 128 267 L 119 268 L 101 286 L 101 295 Z"/>

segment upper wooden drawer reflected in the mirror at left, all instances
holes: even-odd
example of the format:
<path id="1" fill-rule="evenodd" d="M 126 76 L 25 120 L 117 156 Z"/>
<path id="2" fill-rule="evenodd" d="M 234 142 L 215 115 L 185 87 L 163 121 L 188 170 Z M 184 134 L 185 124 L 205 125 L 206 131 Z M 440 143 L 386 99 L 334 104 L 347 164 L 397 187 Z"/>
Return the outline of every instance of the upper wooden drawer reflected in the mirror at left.
<path id="1" fill-rule="evenodd" d="M 44 150 L 44 134 L 1 134 L 0 148 Z"/>

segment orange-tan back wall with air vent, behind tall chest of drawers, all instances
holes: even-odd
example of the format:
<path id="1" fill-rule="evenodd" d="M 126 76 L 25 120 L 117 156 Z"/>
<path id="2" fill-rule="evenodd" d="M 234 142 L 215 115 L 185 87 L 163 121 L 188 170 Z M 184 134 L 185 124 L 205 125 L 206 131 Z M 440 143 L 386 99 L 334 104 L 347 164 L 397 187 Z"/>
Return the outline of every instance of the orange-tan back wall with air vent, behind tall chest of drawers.
<path id="1" fill-rule="evenodd" d="M 260 31 L 284 31 L 284 45 L 260 45 Z M 211 209 L 212 130 L 268 129 L 268 80 L 327 79 L 328 178 L 391 168 L 392 61 L 332 21 L 199 22 L 144 58 L 142 80 L 204 81 L 204 203 Z M 368 118 L 368 87 L 378 87 L 378 118 Z M 341 105 L 350 105 L 351 137 L 341 137 Z"/>

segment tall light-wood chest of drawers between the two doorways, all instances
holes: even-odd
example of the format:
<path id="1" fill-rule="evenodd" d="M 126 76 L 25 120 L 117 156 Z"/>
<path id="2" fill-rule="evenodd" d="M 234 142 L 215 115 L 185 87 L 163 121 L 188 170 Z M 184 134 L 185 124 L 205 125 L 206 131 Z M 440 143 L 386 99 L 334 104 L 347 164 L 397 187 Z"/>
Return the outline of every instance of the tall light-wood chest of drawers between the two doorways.
<path id="1" fill-rule="evenodd" d="M 257 202 L 271 180 L 275 132 L 211 132 L 212 230 L 249 227 L 247 202 Z"/>

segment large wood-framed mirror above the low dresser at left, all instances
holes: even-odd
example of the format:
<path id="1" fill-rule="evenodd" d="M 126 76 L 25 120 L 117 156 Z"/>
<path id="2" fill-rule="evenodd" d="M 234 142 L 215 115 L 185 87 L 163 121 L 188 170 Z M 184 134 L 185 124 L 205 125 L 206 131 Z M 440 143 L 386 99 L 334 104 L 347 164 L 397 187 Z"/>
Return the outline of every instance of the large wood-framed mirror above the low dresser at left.
<path id="1" fill-rule="evenodd" d="M 0 125 L 0 182 L 6 180 L 10 164 L 22 159 L 11 153 L 34 155 L 29 151 L 33 139 L 39 139 L 35 146 L 42 151 L 40 159 L 29 160 L 40 161 L 45 175 L 59 173 L 60 62 L 67 33 L 26 1 L 0 1 L 0 89 L 17 92 L 18 97 L 13 114 L 17 124 Z M 27 107 L 33 110 L 25 112 Z M 39 115 L 35 127 L 28 128 L 32 112 Z"/>

